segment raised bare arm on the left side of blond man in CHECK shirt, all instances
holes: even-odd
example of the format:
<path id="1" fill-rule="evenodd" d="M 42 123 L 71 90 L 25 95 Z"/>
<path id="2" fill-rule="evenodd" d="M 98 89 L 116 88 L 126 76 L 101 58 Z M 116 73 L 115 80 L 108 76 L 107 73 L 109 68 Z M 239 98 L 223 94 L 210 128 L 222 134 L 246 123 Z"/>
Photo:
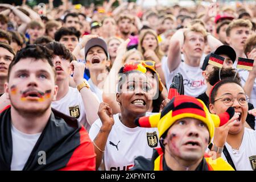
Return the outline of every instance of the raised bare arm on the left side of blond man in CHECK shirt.
<path id="1" fill-rule="evenodd" d="M 184 29 L 177 30 L 170 40 L 167 65 L 170 72 L 176 69 L 181 62 L 181 47 L 184 43 Z"/>

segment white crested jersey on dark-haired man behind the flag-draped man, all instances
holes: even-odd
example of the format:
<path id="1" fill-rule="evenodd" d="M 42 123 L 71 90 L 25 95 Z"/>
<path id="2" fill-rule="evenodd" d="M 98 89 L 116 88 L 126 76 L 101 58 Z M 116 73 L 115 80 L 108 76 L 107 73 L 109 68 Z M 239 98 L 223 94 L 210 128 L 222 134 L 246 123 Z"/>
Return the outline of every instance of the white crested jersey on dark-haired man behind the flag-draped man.
<path id="1" fill-rule="evenodd" d="M 89 131 L 90 125 L 86 120 L 82 96 L 76 88 L 69 86 L 68 93 L 61 100 L 53 101 L 51 106 L 61 113 L 77 118 L 84 125 L 85 129 Z"/>

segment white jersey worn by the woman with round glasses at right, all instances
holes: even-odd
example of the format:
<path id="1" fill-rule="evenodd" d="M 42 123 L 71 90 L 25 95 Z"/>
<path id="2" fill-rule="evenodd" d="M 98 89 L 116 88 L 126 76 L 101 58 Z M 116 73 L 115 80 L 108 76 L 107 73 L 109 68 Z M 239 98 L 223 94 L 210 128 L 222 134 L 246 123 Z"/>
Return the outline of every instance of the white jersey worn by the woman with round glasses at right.
<path id="1" fill-rule="evenodd" d="M 239 150 L 232 149 L 228 143 L 225 143 L 225 146 L 237 171 L 252 171 L 252 166 L 256 169 L 256 131 L 245 128 Z M 223 152 L 221 156 L 226 160 Z"/>

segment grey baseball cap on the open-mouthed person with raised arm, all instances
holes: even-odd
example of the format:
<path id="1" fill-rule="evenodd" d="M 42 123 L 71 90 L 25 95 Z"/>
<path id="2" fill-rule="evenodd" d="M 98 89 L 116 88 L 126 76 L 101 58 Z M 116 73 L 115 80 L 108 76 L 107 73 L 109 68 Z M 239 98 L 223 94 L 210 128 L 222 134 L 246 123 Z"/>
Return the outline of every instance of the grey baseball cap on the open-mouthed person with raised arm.
<path id="1" fill-rule="evenodd" d="M 101 38 L 92 38 L 92 39 L 88 40 L 88 42 L 85 44 L 85 47 L 84 47 L 85 59 L 86 59 L 89 49 L 92 47 L 95 47 L 95 46 L 101 47 L 104 50 L 104 52 L 106 53 L 108 60 L 110 59 L 108 46 L 107 46 L 105 40 L 103 40 Z"/>

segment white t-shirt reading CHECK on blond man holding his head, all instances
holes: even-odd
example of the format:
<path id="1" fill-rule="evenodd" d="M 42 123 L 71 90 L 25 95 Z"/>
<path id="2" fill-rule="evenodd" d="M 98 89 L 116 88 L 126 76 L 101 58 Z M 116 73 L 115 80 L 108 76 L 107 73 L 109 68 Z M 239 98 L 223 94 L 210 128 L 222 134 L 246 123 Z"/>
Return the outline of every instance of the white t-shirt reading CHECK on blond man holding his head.
<path id="1" fill-rule="evenodd" d="M 175 74 L 179 72 L 183 76 L 185 95 L 197 97 L 201 93 L 205 92 L 207 85 L 205 83 L 205 79 L 202 75 L 202 70 L 200 67 L 191 67 L 188 64 L 181 62 L 174 71 L 170 72 L 167 59 L 162 61 L 162 69 L 164 72 L 164 77 L 166 78 L 167 90 L 169 90 Z"/>

